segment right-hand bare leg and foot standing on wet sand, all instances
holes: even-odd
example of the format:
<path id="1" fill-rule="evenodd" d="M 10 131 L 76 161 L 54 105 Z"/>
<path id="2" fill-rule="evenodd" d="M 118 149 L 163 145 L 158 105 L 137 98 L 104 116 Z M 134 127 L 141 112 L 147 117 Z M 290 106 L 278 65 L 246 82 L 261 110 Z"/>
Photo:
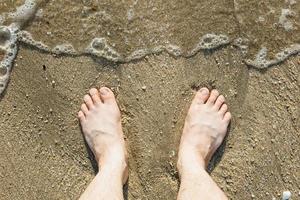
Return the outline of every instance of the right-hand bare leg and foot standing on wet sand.
<path id="1" fill-rule="evenodd" d="M 207 88 L 197 92 L 186 117 L 178 153 L 181 185 L 178 200 L 227 199 L 206 172 L 214 152 L 221 145 L 230 122 L 224 96 Z"/>

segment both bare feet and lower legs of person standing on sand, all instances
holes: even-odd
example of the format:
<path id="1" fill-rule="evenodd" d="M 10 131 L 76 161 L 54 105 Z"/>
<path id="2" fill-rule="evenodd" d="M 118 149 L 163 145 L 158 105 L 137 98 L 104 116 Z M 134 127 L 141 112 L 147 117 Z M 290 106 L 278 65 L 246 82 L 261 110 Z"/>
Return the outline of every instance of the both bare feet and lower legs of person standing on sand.
<path id="1" fill-rule="evenodd" d="M 113 92 L 106 87 L 91 89 L 84 96 L 78 118 L 100 169 L 80 199 L 122 200 L 122 186 L 128 178 L 127 152 L 121 113 Z M 179 147 L 177 167 L 181 184 L 178 200 L 227 199 L 205 169 L 222 143 L 230 119 L 225 98 L 217 90 L 210 92 L 201 88 L 196 93 Z"/>

